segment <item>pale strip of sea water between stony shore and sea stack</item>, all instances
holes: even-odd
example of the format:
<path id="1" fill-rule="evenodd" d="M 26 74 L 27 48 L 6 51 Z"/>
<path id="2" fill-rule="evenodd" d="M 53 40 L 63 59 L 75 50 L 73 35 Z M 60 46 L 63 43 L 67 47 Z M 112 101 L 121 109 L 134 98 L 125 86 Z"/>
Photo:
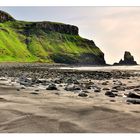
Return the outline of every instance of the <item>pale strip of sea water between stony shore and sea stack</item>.
<path id="1" fill-rule="evenodd" d="M 60 67 L 60 69 L 73 69 L 80 71 L 104 71 L 104 70 L 136 70 L 140 71 L 140 65 L 137 66 L 89 66 L 89 67 Z"/>

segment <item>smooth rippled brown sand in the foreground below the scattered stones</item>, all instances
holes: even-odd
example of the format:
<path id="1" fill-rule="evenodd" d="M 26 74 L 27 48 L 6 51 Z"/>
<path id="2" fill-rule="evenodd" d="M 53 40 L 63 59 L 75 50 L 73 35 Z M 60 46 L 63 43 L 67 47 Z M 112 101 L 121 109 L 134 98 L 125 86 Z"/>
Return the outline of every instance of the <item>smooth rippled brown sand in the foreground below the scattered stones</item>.
<path id="1" fill-rule="evenodd" d="M 140 132 L 139 105 L 126 97 L 104 93 L 79 97 L 77 93 L 11 86 L 0 88 L 0 132 Z"/>

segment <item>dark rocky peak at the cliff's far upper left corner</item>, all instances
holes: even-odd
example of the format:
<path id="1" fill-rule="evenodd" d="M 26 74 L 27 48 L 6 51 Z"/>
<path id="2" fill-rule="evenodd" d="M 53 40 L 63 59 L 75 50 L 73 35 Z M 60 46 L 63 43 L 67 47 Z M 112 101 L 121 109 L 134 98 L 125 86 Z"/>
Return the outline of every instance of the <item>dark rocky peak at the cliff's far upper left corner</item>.
<path id="1" fill-rule="evenodd" d="M 15 19 L 10 16 L 8 13 L 0 11 L 0 22 L 5 22 L 5 21 L 14 21 Z"/>

